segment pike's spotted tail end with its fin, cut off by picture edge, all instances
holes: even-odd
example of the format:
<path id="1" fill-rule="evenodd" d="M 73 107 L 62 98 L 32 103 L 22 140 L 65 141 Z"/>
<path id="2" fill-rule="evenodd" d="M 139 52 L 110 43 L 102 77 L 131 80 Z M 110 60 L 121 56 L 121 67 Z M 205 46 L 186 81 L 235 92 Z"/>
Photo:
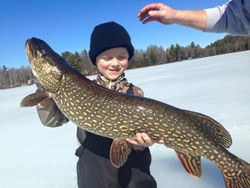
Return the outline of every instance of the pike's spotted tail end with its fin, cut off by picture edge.
<path id="1" fill-rule="evenodd" d="M 222 170 L 227 188 L 250 188 L 250 164 L 237 158 Z"/>

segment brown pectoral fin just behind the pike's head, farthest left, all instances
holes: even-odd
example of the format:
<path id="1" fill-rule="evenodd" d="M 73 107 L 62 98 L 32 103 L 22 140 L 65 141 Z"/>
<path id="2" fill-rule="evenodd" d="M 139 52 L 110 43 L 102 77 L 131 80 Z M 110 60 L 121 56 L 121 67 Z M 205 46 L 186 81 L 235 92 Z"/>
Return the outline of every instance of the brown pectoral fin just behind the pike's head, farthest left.
<path id="1" fill-rule="evenodd" d="M 35 106 L 44 99 L 48 98 L 48 93 L 45 90 L 37 91 L 23 98 L 20 103 L 21 107 Z"/>

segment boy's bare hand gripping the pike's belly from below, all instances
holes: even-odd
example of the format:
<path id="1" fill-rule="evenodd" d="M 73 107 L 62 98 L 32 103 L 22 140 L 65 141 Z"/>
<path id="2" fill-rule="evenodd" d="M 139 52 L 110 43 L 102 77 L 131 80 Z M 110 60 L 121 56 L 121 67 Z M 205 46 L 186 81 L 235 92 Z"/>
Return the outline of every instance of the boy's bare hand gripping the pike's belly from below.
<path id="1" fill-rule="evenodd" d="M 146 133 L 137 133 L 134 138 L 127 138 L 126 141 L 137 147 L 148 147 L 152 146 L 153 142 Z M 163 140 L 158 142 L 159 144 L 164 144 Z"/>

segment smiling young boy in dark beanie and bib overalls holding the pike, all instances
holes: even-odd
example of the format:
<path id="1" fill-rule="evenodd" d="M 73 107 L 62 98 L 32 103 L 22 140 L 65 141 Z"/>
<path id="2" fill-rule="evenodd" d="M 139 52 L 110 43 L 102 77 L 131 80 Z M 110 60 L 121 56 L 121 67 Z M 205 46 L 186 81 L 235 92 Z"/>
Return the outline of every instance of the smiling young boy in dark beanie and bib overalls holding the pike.
<path id="1" fill-rule="evenodd" d="M 130 36 L 121 25 L 108 22 L 96 26 L 89 50 L 90 59 L 99 71 L 94 82 L 117 92 L 143 96 L 143 91 L 129 83 L 124 74 L 133 54 Z M 68 122 L 53 100 L 40 103 L 37 110 L 46 126 L 56 127 Z M 77 138 L 81 143 L 76 150 L 79 188 L 156 188 L 150 174 L 151 154 L 147 147 L 153 143 L 145 133 L 127 140 L 133 151 L 120 168 L 112 166 L 109 160 L 112 139 L 80 128 L 77 128 Z"/>

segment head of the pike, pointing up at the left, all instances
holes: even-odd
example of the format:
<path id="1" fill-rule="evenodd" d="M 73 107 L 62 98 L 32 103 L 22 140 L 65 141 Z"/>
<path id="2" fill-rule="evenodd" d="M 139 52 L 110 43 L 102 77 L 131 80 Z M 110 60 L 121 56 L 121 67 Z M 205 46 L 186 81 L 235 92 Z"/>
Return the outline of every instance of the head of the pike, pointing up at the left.
<path id="1" fill-rule="evenodd" d="M 26 41 L 25 51 L 34 76 L 48 92 L 56 93 L 67 70 L 65 66 L 70 65 L 47 43 L 37 38 Z"/>

